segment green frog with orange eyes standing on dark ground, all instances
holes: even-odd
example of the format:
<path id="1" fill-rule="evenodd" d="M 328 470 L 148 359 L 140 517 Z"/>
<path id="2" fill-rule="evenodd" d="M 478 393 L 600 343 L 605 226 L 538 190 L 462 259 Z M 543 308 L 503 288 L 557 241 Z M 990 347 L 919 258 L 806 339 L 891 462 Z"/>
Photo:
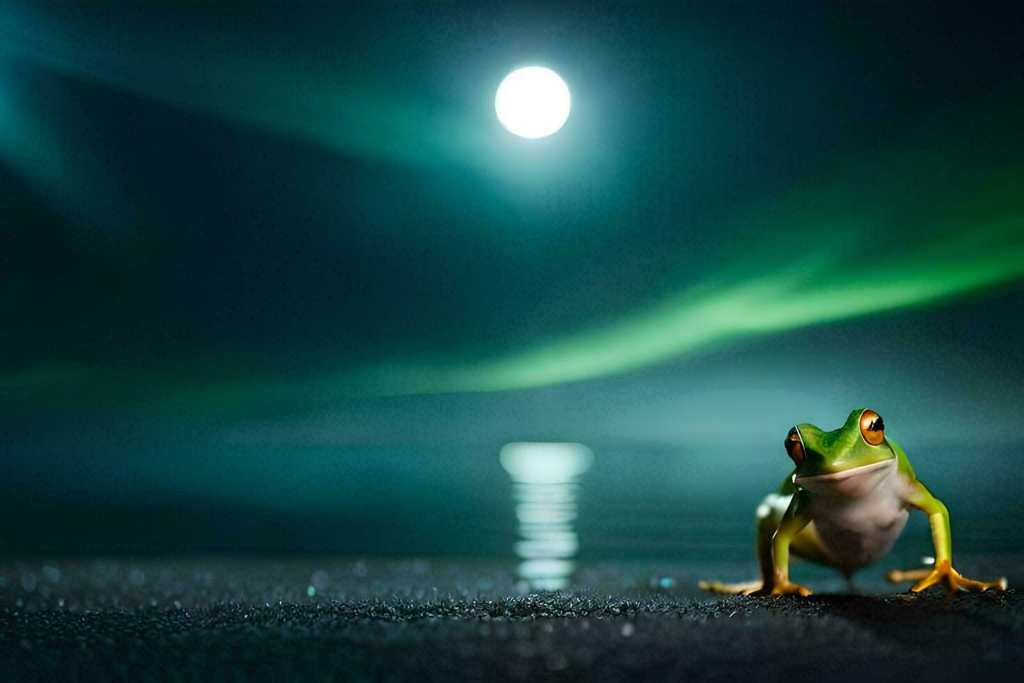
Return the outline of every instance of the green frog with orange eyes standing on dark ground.
<path id="1" fill-rule="evenodd" d="M 949 511 L 916 477 L 903 449 L 886 432 L 877 412 L 860 408 L 839 429 L 792 427 L 783 440 L 793 469 L 757 507 L 755 547 L 760 580 L 699 587 L 725 594 L 808 596 L 790 580 L 790 556 L 839 570 L 848 582 L 881 559 L 903 531 L 909 513 L 928 515 L 935 546 L 931 566 L 893 570 L 892 583 L 916 582 L 910 593 L 942 586 L 959 591 L 1005 591 L 1007 580 L 967 579 L 953 568 Z"/>

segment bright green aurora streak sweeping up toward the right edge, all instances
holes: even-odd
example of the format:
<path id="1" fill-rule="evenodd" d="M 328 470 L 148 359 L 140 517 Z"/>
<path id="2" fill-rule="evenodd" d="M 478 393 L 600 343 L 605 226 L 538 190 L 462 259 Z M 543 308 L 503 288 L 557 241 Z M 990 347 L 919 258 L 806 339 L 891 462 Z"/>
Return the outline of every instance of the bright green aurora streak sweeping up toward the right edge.
<path id="1" fill-rule="evenodd" d="M 989 114 L 983 106 L 975 116 Z M 971 141 L 950 145 L 952 132 L 935 130 L 912 145 L 848 164 L 834 179 L 723 226 L 750 239 L 749 251 L 757 257 L 739 248 L 706 282 L 612 324 L 473 362 L 385 362 L 221 397 L 230 402 L 264 391 L 266 397 L 301 398 L 306 392 L 357 396 L 551 386 L 629 373 L 737 339 L 936 305 L 1013 282 L 1024 275 L 1024 167 L 979 159 Z M 1011 147 L 1020 144 L 1019 133 L 1001 134 Z M 975 184 L 946 187 L 949 167 L 958 164 L 976 169 Z M 900 244 L 904 222 L 922 238 Z"/>

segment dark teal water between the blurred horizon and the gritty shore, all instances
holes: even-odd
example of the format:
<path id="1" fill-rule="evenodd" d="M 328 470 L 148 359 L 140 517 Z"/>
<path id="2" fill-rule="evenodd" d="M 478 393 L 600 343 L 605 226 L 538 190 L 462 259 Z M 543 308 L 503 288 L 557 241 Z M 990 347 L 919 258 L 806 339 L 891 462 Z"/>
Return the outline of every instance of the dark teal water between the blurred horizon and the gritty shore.
<path id="1" fill-rule="evenodd" d="M 1024 550 L 1019 452 L 944 446 L 910 455 L 951 512 L 954 552 Z M 785 475 L 783 456 L 597 445 L 593 453 L 572 486 L 571 514 L 551 527 L 569 541 L 560 557 L 750 558 L 753 566 L 754 509 Z M 7 555 L 260 551 L 511 562 L 522 541 L 518 494 L 498 449 L 253 447 L 121 463 L 57 455 L 49 464 L 45 477 L 26 463 L 11 468 L 0 509 Z M 930 554 L 927 522 L 913 514 L 896 557 Z"/>

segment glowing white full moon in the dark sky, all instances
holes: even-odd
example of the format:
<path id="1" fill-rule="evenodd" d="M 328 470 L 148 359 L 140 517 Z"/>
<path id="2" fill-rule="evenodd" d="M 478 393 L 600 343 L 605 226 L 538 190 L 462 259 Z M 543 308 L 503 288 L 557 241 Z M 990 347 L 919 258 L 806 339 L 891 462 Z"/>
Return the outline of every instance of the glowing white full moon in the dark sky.
<path id="1" fill-rule="evenodd" d="M 498 86 L 498 120 L 519 137 L 546 137 L 569 118 L 569 89 L 544 67 L 517 69 Z"/>

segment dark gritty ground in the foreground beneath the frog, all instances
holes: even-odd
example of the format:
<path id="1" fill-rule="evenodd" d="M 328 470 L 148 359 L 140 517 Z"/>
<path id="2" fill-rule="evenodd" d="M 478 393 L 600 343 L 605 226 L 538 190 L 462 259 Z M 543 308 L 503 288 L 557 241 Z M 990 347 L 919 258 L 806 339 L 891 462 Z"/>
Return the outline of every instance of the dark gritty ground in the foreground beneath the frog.
<path id="1" fill-rule="evenodd" d="M 957 564 L 1024 579 L 1019 557 Z M 693 588 L 746 571 L 605 564 L 572 591 L 521 595 L 495 562 L 6 562 L 0 681 L 1020 680 L 1013 591 L 908 599 L 867 577 L 852 595 L 807 570 L 819 592 L 804 599 Z"/>

